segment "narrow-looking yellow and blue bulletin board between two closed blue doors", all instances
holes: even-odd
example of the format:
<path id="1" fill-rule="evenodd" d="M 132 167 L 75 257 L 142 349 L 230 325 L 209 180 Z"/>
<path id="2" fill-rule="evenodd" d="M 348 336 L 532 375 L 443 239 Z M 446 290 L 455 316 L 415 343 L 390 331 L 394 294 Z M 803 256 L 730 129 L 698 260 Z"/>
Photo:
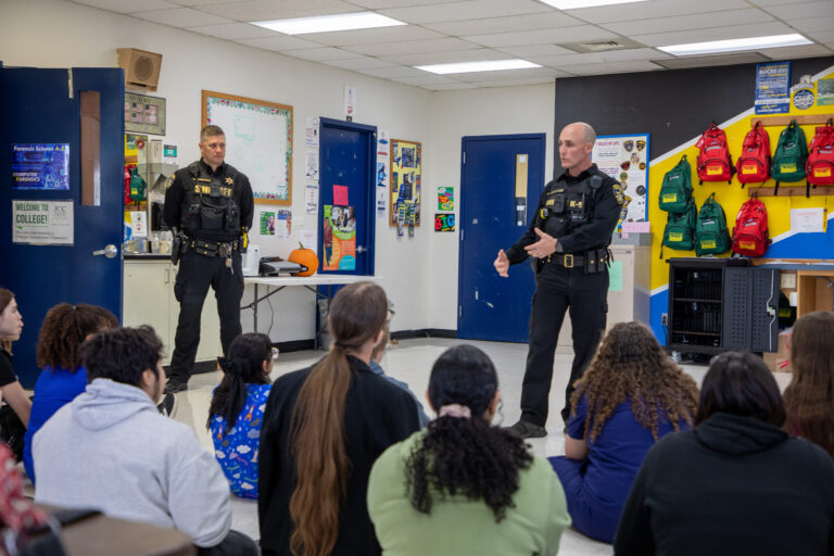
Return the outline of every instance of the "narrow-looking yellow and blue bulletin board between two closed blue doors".
<path id="1" fill-rule="evenodd" d="M 420 225 L 421 174 L 422 143 L 391 139 L 391 226 Z"/>

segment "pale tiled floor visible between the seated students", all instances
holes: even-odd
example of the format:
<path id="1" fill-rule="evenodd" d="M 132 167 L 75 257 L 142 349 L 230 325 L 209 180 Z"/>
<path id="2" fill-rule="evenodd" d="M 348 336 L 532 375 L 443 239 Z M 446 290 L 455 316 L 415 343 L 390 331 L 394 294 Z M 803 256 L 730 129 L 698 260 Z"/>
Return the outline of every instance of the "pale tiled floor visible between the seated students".
<path id="1" fill-rule="evenodd" d="M 429 372 L 434 359 L 447 348 L 462 343 L 460 340 L 419 339 L 404 340 L 389 349 L 383 368 L 386 371 L 407 382 L 417 397 L 425 400 L 428 387 Z M 521 412 L 519 401 L 521 397 L 521 378 L 525 371 L 525 358 L 527 356 L 526 344 L 501 342 L 467 342 L 478 345 L 493 361 L 498 370 L 498 380 L 502 399 L 504 401 L 503 415 L 496 416 L 496 424 L 503 418 L 504 425 L 514 424 Z M 324 355 L 324 352 L 295 352 L 281 354 L 275 363 L 273 379 L 276 377 L 311 365 Z M 532 450 L 541 456 L 560 455 L 565 453 L 565 437 L 561 432 L 563 422 L 558 409 L 565 399 L 565 383 L 567 381 L 572 354 L 557 353 L 554 372 L 554 388 L 551 390 L 551 418 L 547 422 L 549 434 L 544 439 L 530 440 Z M 695 380 L 700 383 L 706 372 L 704 366 L 684 365 Z M 219 381 L 220 374 L 207 372 L 194 376 L 189 390 L 178 395 L 178 405 L 175 418 L 194 428 L 200 441 L 206 448 L 212 448 L 212 441 L 205 429 L 208 412 L 208 403 L 212 388 Z M 776 374 L 780 387 L 789 381 L 789 375 Z M 428 405 L 424 403 L 428 412 Z M 257 528 L 257 506 L 254 502 L 232 496 L 233 520 L 232 527 L 254 539 L 260 536 Z M 611 546 L 592 541 L 580 533 L 568 530 L 563 536 L 559 554 L 567 556 L 601 556 L 610 555 Z"/>

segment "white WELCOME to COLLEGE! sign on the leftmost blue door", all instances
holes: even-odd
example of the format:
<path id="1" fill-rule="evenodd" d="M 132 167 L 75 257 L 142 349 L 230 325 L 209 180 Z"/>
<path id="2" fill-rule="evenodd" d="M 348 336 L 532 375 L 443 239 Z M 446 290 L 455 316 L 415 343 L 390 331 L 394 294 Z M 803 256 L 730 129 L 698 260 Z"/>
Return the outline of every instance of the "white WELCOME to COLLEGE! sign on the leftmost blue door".
<path id="1" fill-rule="evenodd" d="M 12 242 L 73 244 L 72 201 L 12 201 Z"/>

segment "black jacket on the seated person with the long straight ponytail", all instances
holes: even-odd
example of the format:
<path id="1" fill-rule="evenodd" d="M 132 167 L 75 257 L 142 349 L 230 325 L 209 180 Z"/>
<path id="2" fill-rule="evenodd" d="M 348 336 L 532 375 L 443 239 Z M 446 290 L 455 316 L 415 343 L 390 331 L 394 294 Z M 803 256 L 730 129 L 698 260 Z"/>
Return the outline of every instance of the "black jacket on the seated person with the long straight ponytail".
<path id="1" fill-rule="evenodd" d="M 344 407 L 344 439 L 352 471 L 339 513 L 333 555 L 374 555 L 381 548 L 367 508 L 370 468 L 391 444 L 419 429 L 417 407 L 408 392 L 375 375 L 349 356 L 351 387 Z M 311 368 L 283 375 L 273 384 L 264 410 L 258 455 L 257 514 L 264 554 L 290 554 L 290 496 L 295 489 L 295 459 L 289 445 L 295 400 Z"/>

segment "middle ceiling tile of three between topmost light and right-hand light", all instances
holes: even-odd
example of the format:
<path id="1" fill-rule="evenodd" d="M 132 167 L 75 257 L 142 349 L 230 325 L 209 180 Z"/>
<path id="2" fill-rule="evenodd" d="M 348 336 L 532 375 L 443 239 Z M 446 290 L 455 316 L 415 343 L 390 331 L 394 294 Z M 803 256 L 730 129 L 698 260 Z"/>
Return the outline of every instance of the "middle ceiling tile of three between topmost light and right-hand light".
<path id="1" fill-rule="evenodd" d="M 725 10 L 723 12 L 678 15 L 674 17 L 655 17 L 652 20 L 637 20 L 633 22 L 606 23 L 601 24 L 599 26 L 620 35 L 628 36 L 703 29 L 708 27 L 726 27 L 730 25 L 747 25 L 750 23 L 772 21 L 774 21 L 773 17 L 768 15 L 767 12 L 750 8 L 747 10 Z"/>

